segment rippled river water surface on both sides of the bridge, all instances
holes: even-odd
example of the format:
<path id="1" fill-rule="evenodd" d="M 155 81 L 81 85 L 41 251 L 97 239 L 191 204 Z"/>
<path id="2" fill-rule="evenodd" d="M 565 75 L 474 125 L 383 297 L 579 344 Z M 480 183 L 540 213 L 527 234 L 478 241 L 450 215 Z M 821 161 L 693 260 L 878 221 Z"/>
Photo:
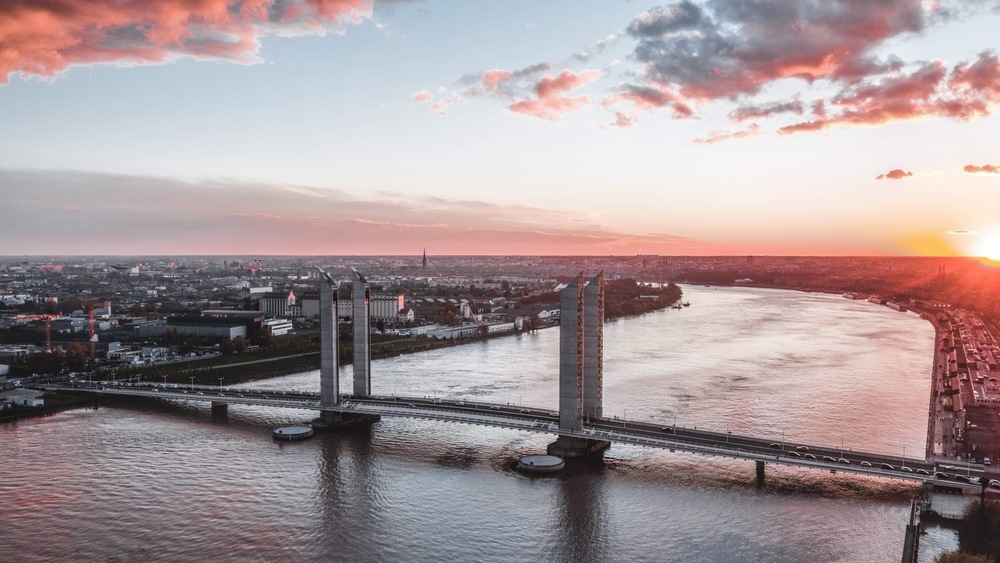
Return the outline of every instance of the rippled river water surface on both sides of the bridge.
<path id="1" fill-rule="evenodd" d="M 839 296 L 686 286 L 605 326 L 605 414 L 922 455 L 933 329 Z M 557 403 L 558 332 L 372 364 L 375 393 Z M 350 368 L 341 374 L 349 389 Z M 318 372 L 255 382 L 319 389 Z M 300 443 L 302 411 L 139 403 L 0 425 L 0 561 L 898 561 L 913 485 L 384 419 Z M 931 528 L 921 561 L 955 547 Z"/>

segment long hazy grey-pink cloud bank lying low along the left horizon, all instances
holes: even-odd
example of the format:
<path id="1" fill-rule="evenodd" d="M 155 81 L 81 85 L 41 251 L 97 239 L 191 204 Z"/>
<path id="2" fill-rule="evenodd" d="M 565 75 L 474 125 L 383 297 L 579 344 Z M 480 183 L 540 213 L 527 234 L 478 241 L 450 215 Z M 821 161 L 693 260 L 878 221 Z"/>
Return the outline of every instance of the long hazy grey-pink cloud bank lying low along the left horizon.
<path id="1" fill-rule="evenodd" d="M 581 221 L 576 213 L 482 200 L 26 170 L 0 170 L 0 185 L 18 194 L 0 222 L 0 254 L 10 255 L 405 254 L 422 246 L 440 254 L 666 254 L 719 248 L 683 236 L 622 232 Z M 71 212 L 47 220 L 53 208 Z"/>

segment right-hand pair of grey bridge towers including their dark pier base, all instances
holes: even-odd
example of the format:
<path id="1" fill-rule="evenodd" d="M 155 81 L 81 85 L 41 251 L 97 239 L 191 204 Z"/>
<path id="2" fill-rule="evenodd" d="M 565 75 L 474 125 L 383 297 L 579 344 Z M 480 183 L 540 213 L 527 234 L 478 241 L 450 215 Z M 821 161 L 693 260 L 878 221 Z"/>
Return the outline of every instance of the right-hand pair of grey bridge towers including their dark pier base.
<path id="1" fill-rule="evenodd" d="M 594 287 L 589 291 L 589 299 L 582 272 L 577 274 L 559 296 L 559 429 L 563 431 L 583 430 L 584 416 L 597 416 L 596 413 L 602 409 L 602 392 L 599 386 L 602 384 L 603 372 L 603 274 L 598 274 L 591 283 Z M 593 311 L 589 311 L 588 305 Z M 588 315 L 592 327 L 589 341 Z M 588 344 L 590 351 L 587 349 Z M 583 457 L 604 451 L 609 445 L 604 440 L 560 436 L 549 444 L 548 453 L 562 457 Z"/>

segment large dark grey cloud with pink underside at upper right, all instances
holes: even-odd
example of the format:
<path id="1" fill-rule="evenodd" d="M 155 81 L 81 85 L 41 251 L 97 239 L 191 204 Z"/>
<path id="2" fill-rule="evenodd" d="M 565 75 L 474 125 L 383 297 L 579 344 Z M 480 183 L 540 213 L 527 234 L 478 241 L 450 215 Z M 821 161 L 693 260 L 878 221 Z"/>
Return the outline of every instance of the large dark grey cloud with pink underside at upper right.
<path id="1" fill-rule="evenodd" d="M 784 77 L 853 80 L 898 66 L 871 50 L 926 27 L 913 0 L 689 0 L 637 16 L 628 33 L 647 80 L 686 97 L 735 98 Z"/>

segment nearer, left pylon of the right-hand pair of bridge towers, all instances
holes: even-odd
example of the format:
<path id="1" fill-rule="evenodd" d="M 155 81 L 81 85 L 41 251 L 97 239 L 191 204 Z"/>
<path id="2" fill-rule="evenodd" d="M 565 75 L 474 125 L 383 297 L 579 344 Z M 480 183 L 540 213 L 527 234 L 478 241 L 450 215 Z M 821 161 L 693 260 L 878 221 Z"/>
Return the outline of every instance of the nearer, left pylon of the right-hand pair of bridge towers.
<path id="1" fill-rule="evenodd" d="M 583 274 L 559 295 L 559 428 L 582 430 Z"/>

